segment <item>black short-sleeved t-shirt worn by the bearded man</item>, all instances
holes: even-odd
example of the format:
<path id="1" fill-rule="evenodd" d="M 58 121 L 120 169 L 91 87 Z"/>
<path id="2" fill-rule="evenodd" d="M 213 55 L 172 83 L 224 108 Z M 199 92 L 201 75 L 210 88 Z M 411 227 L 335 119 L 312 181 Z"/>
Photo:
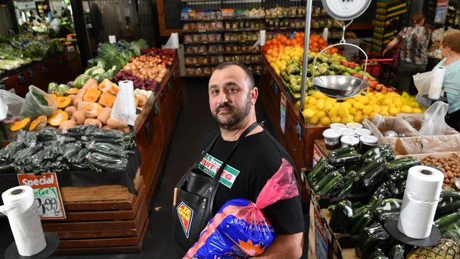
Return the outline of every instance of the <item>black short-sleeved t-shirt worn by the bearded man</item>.
<path id="1" fill-rule="evenodd" d="M 205 146 L 209 146 L 215 134 L 213 132 L 205 138 Z M 268 134 L 266 131 L 252 134 L 238 144 L 219 179 L 213 214 L 229 200 L 243 198 L 255 202 L 267 180 L 280 168 L 282 159 L 293 164 L 287 151 Z M 219 134 L 212 149 L 198 163 L 200 173 L 214 176 L 234 144 L 224 141 Z M 300 196 L 275 202 L 263 209 L 263 213 L 271 222 L 275 234 L 304 231 Z"/>

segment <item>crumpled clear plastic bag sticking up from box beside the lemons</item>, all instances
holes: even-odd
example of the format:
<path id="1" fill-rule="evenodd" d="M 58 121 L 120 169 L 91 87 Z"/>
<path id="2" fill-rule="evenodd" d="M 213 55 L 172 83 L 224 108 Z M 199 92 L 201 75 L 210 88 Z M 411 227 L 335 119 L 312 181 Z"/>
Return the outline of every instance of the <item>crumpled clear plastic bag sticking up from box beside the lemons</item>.
<path id="1" fill-rule="evenodd" d="M 422 136 L 444 135 L 446 130 L 446 121 L 444 117 L 447 114 L 449 105 L 442 101 L 433 103 L 430 108 L 423 114 L 422 127 L 418 133 Z"/>

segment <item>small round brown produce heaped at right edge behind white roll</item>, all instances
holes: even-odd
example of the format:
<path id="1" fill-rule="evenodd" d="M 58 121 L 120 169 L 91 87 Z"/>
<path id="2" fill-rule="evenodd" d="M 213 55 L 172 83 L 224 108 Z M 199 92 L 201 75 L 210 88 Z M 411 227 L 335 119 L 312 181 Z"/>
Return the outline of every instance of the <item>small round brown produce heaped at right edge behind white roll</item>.
<path id="1" fill-rule="evenodd" d="M 435 158 L 435 156 L 427 156 L 421 162 L 424 166 L 437 166 L 438 170 L 444 173 L 444 183 L 442 184 L 442 188 L 456 189 L 455 178 L 460 178 L 460 161 L 457 157 L 452 156 L 449 158 L 439 159 Z"/>

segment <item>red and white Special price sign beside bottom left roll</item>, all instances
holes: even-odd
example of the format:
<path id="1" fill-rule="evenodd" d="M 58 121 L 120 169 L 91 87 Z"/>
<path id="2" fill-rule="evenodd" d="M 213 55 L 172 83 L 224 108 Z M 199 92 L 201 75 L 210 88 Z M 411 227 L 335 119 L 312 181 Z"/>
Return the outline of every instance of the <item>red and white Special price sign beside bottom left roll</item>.
<path id="1" fill-rule="evenodd" d="M 32 187 L 40 219 L 66 219 L 56 173 L 21 173 L 18 180 L 19 185 Z"/>

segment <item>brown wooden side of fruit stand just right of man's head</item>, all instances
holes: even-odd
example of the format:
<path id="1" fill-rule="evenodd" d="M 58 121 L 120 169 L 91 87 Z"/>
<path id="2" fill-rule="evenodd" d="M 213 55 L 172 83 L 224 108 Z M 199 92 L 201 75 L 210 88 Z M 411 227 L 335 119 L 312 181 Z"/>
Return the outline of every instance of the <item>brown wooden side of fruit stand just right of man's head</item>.
<path id="1" fill-rule="evenodd" d="M 311 169 L 314 140 L 322 139 L 323 131 L 328 127 L 307 125 L 303 115 L 295 108 L 295 102 L 289 96 L 280 76 L 270 67 L 265 57 L 262 59 L 260 101 L 272 125 L 272 134 L 292 156 L 297 169 Z M 286 103 L 284 131 L 280 126 L 282 100 Z"/>

